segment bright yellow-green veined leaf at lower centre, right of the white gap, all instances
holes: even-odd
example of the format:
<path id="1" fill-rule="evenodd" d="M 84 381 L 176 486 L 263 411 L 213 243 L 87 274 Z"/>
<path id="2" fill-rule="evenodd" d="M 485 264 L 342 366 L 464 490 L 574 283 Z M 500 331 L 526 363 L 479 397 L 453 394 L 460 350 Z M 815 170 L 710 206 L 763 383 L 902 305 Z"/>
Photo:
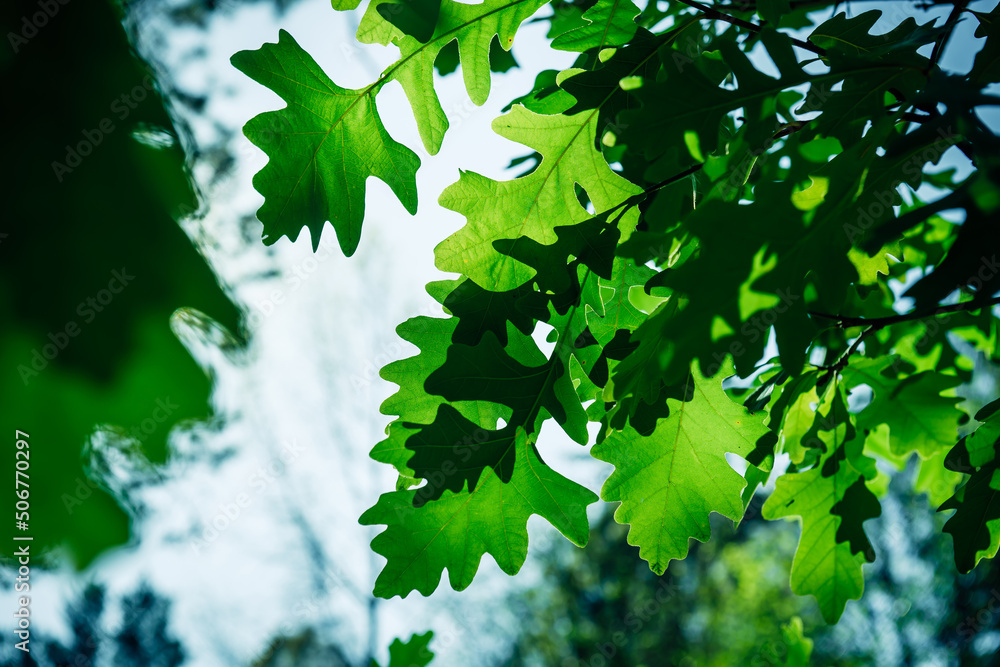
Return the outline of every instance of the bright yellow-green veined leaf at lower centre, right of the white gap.
<path id="1" fill-rule="evenodd" d="M 731 370 L 728 364 L 722 372 Z M 689 539 L 711 536 L 711 512 L 734 521 L 743 516 L 746 480 L 726 454 L 746 455 L 768 433 L 759 417 L 726 395 L 720 377 L 705 378 L 693 365 L 689 383 L 691 400 L 668 401 L 670 415 L 651 436 L 615 432 L 591 452 L 615 466 L 601 498 L 621 503 L 615 520 L 631 526 L 629 544 L 656 574 L 687 555 Z"/>

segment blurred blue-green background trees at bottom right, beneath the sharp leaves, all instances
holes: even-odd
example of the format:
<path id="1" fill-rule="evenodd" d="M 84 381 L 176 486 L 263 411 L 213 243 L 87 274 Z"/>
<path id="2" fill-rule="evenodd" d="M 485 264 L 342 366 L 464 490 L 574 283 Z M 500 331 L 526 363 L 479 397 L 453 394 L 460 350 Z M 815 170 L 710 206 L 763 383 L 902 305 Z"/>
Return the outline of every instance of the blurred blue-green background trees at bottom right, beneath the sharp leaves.
<path id="1" fill-rule="evenodd" d="M 865 567 L 867 592 L 836 625 L 789 589 L 798 531 L 765 525 L 760 499 L 735 529 L 714 516 L 714 539 L 692 542 L 690 556 L 659 577 L 606 513 L 586 552 L 553 542 L 544 583 L 511 600 L 523 634 L 505 664 L 1000 665 L 1000 567 L 954 571 L 944 517 L 908 490 L 915 472 L 897 475 L 881 499 L 884 516 L 869 524 L 878 559 Z"/>

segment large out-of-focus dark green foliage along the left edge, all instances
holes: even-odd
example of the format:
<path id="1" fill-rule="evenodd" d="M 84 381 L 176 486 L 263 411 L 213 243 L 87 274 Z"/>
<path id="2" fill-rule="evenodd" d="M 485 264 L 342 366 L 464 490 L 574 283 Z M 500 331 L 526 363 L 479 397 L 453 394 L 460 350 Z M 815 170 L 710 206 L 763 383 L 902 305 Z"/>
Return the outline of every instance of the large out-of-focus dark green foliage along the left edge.
<path id="1" fill-rule="evenodd" d="M 128 539 L 129 517 L 88 475 L 95 427 L 155 464 L 175 424 L 210 414 L 209 378 L 171 314 L 197 309 L 238 331 L 236 307 L 176 222 L 196 212 L 197 193 L 156 75 L 121 19 L 110 2 L 0 10 L 0 77 L 16 96 L 4 105 L 0 396 L 5 451 L 15 429 L 30 434 L 35 565 L 59 549 L 82 567 Z M 188 312 L 181 319 L 201 319 Z M 209 336 L 181 328 L 192 342 Z M 4 456 L 5 496 L 13 468 Z M 9 541 L 0 549 L 13 552 Z"/>

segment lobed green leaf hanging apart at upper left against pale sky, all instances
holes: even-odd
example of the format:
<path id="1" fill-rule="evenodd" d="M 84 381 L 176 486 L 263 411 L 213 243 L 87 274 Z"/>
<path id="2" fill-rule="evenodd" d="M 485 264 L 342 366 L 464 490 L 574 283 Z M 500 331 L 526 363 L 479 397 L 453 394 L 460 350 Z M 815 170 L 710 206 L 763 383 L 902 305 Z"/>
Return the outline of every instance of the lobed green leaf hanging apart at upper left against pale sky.
<path id="1" fill-rule="evenodd" d="M 382 180 L 407 211 L 416 213 L 420 160 L 382 125 L 374 85 L 341 88 L 284 30 L 277 44 L 240 51 L 232 63 L 288 104 L 254 117 L 243 130 L 270 158 L 254 177 L 254 187 L 264 195 L 257 217 L 264 223 L 266 244 L 282 236 L 294 241 L 305 226 L 315 250 L 329 220 L 344 254 L 353 255 L 361 239 L 369 176 Z"/>

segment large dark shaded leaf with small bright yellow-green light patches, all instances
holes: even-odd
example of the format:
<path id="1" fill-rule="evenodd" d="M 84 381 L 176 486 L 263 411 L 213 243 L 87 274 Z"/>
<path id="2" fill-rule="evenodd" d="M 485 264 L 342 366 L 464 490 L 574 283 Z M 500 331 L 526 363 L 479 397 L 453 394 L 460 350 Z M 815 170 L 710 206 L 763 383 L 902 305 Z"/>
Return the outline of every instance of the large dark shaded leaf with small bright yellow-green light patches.
<path id="1" fill-rule="evenodd" d="M 697 237 L 697 249 L 666 274 L 662 284 L 675 291 L 672 303 L 637 330 L 639 348 L 619 367 L 616 395 L 648 392 L 661 376 L 677 381 L 693 357 L 710 368 L 729 353 L 740 375 L 749 375 L 767 331 L 756 324 L 757 311 L 775 327 L 783 367 L 797 374 L 818 330 L 807 295 L 842 304 L 860 279 L 847 254 L 851 221 L 876 197 L 898 197 L 894 188 L 914 180 L 909 150 L 880 157 L 865 143 L 891 127 L 881 122 L 864 142 L 817 169 L 830 189 L 813 211 L 791 204 L 794 181 L 786 177 L 758 188 L 753 203 L 711 198 L 689 213 L 682 228 Z"/>

